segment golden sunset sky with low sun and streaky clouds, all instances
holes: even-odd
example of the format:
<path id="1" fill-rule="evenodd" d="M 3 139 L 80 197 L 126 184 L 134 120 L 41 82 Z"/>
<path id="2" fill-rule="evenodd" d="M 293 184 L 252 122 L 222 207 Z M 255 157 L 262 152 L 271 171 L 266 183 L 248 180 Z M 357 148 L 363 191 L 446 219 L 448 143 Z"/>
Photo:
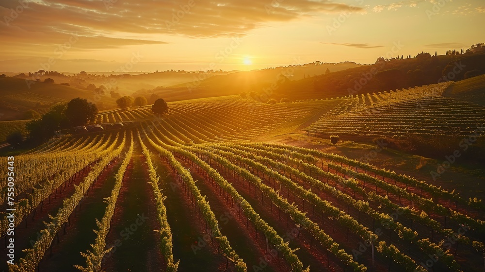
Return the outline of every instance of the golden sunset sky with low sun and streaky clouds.
<path id="1" fill-rule="evenodd" d="M 484 42 L 483 0 L 0 0 L 0 71 L 251 70 Z"/>

